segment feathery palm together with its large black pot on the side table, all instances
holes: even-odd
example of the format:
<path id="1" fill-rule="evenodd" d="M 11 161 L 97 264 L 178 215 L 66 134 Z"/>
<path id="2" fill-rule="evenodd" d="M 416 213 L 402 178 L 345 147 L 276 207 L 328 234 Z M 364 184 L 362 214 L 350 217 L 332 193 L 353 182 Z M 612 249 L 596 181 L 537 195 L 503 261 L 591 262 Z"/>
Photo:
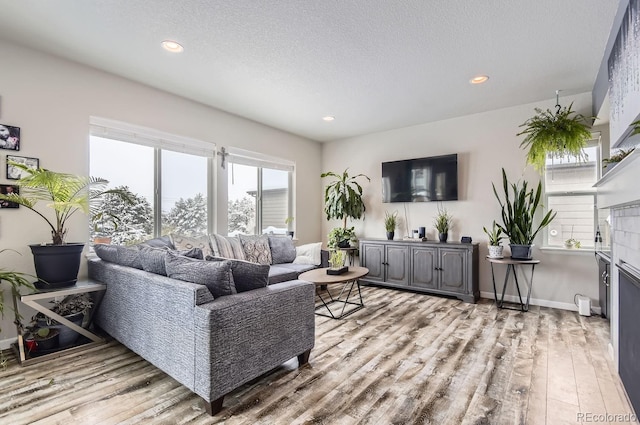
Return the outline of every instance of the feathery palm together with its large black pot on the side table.
<path id="1" fill-rule="evenodd" d="M 78 278 L 80 256 L 84 242 L 67 243 L 67 220 L 76 212 L 89 212 L 91 200 L 113 193 L 124 198 L 128 195 L 118 189 L 106 189 L 107 180 L 59 173 L 44 168 L 31 169 L 13 161 L 8 163 L 26 174 L 17 181 L 20 194 L 0 194 L 0 200 L 14 202 L 36 213 L 51 231 L 51 244 L 29 245 L 33 253 L 37 287 L 64 287 L 74 285 Z M 54 218 L 47 217 L 39 205 L 53 209 Z"/>

